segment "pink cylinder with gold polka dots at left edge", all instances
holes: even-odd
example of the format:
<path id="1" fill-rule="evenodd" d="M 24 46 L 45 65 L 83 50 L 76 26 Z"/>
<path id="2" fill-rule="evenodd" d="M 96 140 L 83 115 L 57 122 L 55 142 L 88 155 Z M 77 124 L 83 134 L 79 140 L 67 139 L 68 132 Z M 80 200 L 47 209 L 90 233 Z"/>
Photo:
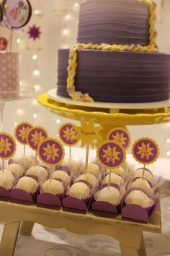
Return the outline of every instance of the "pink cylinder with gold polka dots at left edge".
<path id="1" fill-rule="evenodd" d="M 19 96 L 19 54 L 0 53 L 0 98 Z"/>

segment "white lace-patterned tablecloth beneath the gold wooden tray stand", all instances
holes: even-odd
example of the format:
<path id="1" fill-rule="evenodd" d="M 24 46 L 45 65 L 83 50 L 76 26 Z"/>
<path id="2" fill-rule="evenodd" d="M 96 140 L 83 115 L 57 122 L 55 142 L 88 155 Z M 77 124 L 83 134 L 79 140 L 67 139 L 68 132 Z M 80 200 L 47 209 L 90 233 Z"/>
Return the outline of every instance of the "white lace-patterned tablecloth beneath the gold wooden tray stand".
<path id="1" fill-rule="evenodd" d="M 84 155 L 84 152 L 79 150 L 79 155 L 81 154 Z M 93 154 L 91 152 L 91 155 Z M 128 158 L 131 161 L 131 156 Z M 170 256 L 170 161 L 158 159 L 153 167 L 156 175 L 161 174 L 163 177 L 161 186 L 162 234 L 144 233 L 146 252 L 148 256 Z M 3 226 L 0 228 L 2 232 Z M 78 235 L 65 229 L 48 229 L 35 224 L 32 236 L 19 236 L 14 253 L 14 256 L 30 255 L 120 256 L 120 247 L 118 242 L 109 236 Z"/>

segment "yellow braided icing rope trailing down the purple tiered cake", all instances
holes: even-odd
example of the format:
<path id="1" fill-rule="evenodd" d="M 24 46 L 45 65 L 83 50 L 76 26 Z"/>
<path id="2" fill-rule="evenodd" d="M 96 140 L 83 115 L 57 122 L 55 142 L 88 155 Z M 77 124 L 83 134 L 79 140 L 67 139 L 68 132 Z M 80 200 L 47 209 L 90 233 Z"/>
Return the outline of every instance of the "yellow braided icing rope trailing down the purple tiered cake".
<path id="1" fill-rule="evenodd" d="M 142 2 L 150 4 L 150 20 L 149 20 L 149 40 L 148 46 L 141 45 L 109 45 L 107 43 L 78 43 L 71 49 L 69 54 L 68 65 L 68 79 L 67 79 L 67 91 L 74 101 L 94 102 L 94 99 L 87 93 L 81 93 L 76 91 L 75 77 L 77 69 L 77 51 L 78 50 L 103 50 L 103 51 L 144 51 L 144 52 L 157 52 L 156 46 L 156 4 L 152 0 L 140 0 Z"/>

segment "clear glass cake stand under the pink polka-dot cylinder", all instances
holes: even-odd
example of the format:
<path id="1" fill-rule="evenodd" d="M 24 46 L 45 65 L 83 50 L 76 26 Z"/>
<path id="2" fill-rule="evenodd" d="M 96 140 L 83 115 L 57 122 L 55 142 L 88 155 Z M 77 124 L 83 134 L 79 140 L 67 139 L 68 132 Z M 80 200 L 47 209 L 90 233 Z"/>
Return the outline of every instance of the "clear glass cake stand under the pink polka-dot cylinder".
<path id="1" fill-rule="evenodd" d="M 31 98 L 34 90 L 33 88 L 27 88 L 26 86 L 20 87 L 20 90 L 18 92 L 10 92 L 10 93 L 16 93 L 15 98 L 2 98 L 4 93 L 0 93 L 0 132 L 3 131 L 3 124 L 4 124 L 4 107 L 5 103 L 9 101 L 22 101 L 27 98 Z M 7 94 L 7 92 L 5 93 Z"/>

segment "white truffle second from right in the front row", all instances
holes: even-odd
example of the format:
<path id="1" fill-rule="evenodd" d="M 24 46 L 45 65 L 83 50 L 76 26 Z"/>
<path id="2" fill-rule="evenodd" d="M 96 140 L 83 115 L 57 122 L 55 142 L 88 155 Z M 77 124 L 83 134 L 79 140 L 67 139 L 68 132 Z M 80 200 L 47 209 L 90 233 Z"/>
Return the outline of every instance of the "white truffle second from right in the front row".
<path id="1" fill-rule="evenodd" d="M 109 202 L 113 205 L 117 205 L 120 202 L 120 192 L 115 187 L 104 187 L 96 195 L 97 201 Z"/>

